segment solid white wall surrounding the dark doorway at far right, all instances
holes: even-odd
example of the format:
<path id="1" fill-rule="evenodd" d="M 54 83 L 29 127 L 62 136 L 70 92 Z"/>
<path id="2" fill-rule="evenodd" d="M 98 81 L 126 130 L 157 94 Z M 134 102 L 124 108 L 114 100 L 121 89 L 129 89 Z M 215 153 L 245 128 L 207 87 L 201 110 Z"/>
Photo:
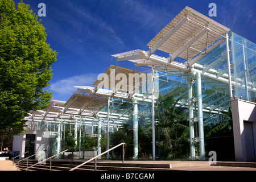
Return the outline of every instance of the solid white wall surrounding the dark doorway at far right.
<path id="1" fill-rule="evenodd" d="M 246 162 L 247 158 L 243 122 L 249 121 L 252 123 L 254 133 L 254 146 L 256 146 L 256 104 L 239 99 L 232 100 L 231 104 L 236 161 Z"/>

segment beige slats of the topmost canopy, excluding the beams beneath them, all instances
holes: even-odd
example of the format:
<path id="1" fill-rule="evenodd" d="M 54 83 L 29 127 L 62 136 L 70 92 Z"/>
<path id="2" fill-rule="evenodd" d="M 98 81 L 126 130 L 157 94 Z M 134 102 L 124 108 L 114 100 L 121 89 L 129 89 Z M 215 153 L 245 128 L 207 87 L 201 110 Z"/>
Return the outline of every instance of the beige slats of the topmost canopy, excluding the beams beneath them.
<path id="1" fill-rule="evenodd" d="M 185 17 L 189 19 L 179 27 L 174 34 L 172 34 L 164 43 L 162 43 L 158 49 L 167 53 L 174 53 L 177 49 L 183 46 L 188 40 L 192 39 L 202 28 L 208 27 L 208 34 L 202 35 L 198 40 L 196 40 L 191 46 L 198 51 L 190 50 L 190 56 L 196 56 L 197 53 L 203 51 L 206 46 L 215 42 L 217 39 L 229 31 L 229 28 L 222 26 L 220 23 L 208 18 L 207 16 L 198 13 L 197 11 L 191 9 L 190 7 L 185 7 L 170 23 L 167 24 L 148 44 L 147 46 L 153 47 L 157 44 L 164 35 L 168 34 L 177 23 L 181 22 Z M 200 46 L 202 45 L 202 46 Z M 186 55 L 186 56 L 185 56 Z M 185 57 L 184 57 L 185 56 Z M 179 57 L 186 58 L 187 50 L 181 52 Z"/>

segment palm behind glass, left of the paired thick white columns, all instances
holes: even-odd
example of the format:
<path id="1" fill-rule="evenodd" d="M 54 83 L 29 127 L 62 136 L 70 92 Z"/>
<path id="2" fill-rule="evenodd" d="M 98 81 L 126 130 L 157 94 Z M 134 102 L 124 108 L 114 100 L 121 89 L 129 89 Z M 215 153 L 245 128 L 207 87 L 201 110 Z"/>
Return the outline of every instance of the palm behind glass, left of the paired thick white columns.
<path id="1" fill-rule="evenodd" d="M 189 151 L 189 128 L 187 112 L 184 107 L 178 105 L 170 94 L 159 96 L 159 104 L 156 109 L 156 127 L 160 133 L 160 155 L 166 159 L 187 157 Z"/>

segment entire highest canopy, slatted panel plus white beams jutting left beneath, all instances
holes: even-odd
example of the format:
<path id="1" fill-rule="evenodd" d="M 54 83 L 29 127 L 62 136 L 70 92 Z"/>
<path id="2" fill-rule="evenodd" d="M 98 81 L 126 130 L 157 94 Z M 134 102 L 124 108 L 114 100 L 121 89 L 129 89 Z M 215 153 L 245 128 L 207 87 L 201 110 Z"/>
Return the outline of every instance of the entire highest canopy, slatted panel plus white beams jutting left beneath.
<path id="1" fill-rule="evenodd" d="M 228 31 L 229 28 L 186 6 L 147 43 L 148 51 L 137 49 L 112 56 L 117 61 L 133 61 L 137 66 L 165 65 L 170 67 L 165 70 L 188 71 L 188 67 L 223 42 L 222 38 Z M 167 52 L 170 57 L 154 55 L 156 50 Z M 176 57 L 188 62 L 177 63 L 174 61 Z"/>

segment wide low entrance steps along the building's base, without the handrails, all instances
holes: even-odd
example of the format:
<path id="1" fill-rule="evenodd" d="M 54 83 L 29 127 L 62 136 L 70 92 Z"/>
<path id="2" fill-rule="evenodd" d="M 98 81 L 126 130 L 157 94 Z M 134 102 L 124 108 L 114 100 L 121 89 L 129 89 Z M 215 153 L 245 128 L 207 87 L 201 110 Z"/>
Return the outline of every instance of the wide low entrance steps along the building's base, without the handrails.
<path id="1" fill-rule="evenodd" d="M 29 160 L 28 166 L 38 163 L 37 160 Z M 83 162 L 78 161 L 67 161 L 67 160 L 52 160 L 52 171 L 69 171 L 70 169 L 78 166 Z M 17 162 L 15 162 L 17 166 Z M 80 168 L 77 168 L 76 171 L 94 171 L 95 166 L 94 162 L 89 162 Z M 97 160 L 97 170 L 98 171 L 170 171 L 178 170 L 183 167 L 196 167 L 196 166 L 209 166 L 208 162 L 199 162 L 199 163 L 183 163 L 183 164 L 170 164 L 170 163 L 142 163 L 142 162 L 112 162 L 106 160 Z M 19 169 L 24 170 L 27 167 L 27 162 L 22 161 L 19 163 Z M 44 164 L 37 164 L 28 169 L 28 171 L 49 171 L 49 162 Z"/>

